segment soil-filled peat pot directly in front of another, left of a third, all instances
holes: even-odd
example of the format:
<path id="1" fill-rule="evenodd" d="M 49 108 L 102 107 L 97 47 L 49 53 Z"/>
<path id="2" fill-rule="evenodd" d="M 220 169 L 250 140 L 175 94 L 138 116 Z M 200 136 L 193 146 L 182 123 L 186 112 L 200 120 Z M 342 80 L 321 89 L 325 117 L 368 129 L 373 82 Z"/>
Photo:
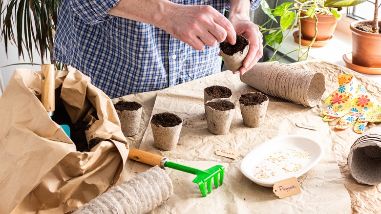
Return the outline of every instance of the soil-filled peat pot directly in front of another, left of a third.
<path id="1" fill-rule="evenodd" d="M 208 131 L 215 135 L 229 132 L 235 105 L 227 100 L 213 99 L 205 104 Z"/>

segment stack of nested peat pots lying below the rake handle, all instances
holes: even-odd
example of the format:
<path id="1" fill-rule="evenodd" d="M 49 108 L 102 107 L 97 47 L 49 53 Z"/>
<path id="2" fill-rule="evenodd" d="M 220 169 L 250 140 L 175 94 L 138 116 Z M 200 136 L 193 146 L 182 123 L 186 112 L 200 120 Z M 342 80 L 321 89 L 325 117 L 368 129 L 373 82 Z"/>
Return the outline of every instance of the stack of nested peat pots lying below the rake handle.
<path id="1" fill-rule="evenodd" d="M 172 181 L 163 169 L 155 166 L 92 199 L 73 214 L 145 214 L 171 195 Z"/>

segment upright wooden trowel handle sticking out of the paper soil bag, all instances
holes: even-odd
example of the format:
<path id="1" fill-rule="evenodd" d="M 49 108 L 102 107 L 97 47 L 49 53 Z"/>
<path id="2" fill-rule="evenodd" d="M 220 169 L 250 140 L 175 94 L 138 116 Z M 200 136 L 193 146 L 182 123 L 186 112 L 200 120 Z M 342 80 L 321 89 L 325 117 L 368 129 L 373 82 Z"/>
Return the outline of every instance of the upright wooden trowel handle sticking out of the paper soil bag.
<path id="1" fill-rule="evenodd" d="M 41 65 L 41 102 L 49 115 L 53 115 L 54 111 L 54 65 Z"/>

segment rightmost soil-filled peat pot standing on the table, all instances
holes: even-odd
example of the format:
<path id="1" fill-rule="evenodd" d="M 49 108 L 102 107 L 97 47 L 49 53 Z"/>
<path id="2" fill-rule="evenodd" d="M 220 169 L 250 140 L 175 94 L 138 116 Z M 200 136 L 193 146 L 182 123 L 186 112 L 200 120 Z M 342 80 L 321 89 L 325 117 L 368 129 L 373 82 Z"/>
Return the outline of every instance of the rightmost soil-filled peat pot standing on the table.
<path id="1" fill-rule="evenodd" d="M 260 127 L 266 117 L 269 98 L 260 92 L 242 94 L 239 98 L 239 106 L 243 124 L 247 127 Z"/>

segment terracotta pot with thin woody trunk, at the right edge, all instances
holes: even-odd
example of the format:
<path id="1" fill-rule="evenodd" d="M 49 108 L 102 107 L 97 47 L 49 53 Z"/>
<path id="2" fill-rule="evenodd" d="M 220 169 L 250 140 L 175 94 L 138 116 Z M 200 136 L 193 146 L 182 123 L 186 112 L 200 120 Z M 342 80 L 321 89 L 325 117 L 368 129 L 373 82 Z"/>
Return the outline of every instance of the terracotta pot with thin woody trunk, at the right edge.
<path id="1" fill-rule="evenodd" d="M 361 21 L 350 25 L 352 31 L 352 63 L 363 67 L 381 67 L 381 34 L 368 33 L 356 28 Z M 373 22 L 366 20 L 363 22 Z M 379 21 L 381 24 L 381 21 Z"/>

